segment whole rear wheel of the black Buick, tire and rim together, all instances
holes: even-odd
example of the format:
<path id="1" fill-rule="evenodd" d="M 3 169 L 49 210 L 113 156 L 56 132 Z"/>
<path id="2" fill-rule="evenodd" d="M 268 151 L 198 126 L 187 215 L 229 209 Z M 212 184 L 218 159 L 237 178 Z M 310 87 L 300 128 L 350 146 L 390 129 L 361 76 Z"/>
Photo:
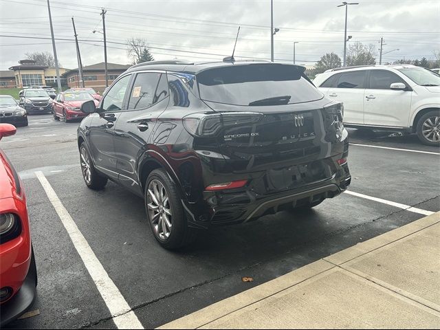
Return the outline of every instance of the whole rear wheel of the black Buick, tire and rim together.
<path id="1" fill-rule="evenodd" d="M 144 201 L 151 231 L 162 248 L 177 250 L 195 240 L 197 231 L 188 227 L 179 190 L 162 168 L 148 175 Z"/>

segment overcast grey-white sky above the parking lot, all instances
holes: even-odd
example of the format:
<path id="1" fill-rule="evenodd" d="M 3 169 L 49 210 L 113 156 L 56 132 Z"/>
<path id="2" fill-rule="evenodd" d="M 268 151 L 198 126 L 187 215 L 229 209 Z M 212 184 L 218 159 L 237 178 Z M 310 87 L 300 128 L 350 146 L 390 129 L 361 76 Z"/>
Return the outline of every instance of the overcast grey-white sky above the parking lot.
<path id="1" fill-rule="evenodd" d="M 440 50 L 439 0 L 358 0 L 349 6 L 348 44 L 379 48 L 384 62 L 425 56 Z M 102 7 L 107 9 L 108 61 L 129 64 L 126 39 L 145 39 L 156 60 L 206 61 L 230 56 L 241 25 L 235 57 L 270 58 L 270 0 L 51 0 L 58 61 L 78 67 L 72 30 L 75 19 L 83 65 L 104 61 Z M 340 1 L 274 0 L 276 60 L 313 64 L 326 52 L 342 58 L 344 8 Z M 0 69 L 17 65 L 26 52 L 52 52 L 47 0 L 0 0 Z M 3 35 L 16 36 L 4 37 Z M 26 37 L 26 38 L 18 38 Z M 41 39 L 34 39 L 41 38 Z M 399 49 L 399 50 L 396 50 Z M 184 52 L 185 51 L 185 52 Z M 378 53 L 378 52 L 377 52 Z M 377 56 L 378 57 L 378 56 Z"/>

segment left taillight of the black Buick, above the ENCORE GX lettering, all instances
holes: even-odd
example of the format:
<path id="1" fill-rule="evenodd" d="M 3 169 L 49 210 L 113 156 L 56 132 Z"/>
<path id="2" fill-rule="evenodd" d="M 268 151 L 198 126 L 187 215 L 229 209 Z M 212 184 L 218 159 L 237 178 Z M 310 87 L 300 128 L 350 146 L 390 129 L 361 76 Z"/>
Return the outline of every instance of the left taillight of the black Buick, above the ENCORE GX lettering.
<path id="1" fill-rule="evenodd" d="M 186 131 L 191 135 L 211 137 L 224 127 L 252 125 L 263 117 L 263 113 L 193 113 L 183 118 Z"/>

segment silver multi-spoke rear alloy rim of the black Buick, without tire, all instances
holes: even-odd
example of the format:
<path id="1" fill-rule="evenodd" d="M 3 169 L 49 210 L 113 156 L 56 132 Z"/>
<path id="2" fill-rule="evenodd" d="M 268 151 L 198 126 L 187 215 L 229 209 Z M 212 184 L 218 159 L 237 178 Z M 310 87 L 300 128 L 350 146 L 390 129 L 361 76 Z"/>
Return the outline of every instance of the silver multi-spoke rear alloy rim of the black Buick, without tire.
<path id="1" fill-rule="evenodd" d="M 157 179 L 148 184 L 146 194 L 146 206 L 148 218 L 155 234 L 159 239 L 166 240 L 170 236 L 173 227 L 173 214 L 170 207 L 170 199 L 164 185 Z"/>

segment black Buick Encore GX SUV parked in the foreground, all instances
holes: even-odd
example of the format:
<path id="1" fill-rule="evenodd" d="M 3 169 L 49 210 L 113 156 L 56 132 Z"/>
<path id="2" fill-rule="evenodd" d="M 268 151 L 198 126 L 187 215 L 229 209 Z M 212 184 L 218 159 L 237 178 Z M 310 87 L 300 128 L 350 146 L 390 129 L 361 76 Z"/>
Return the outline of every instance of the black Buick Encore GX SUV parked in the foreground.
<path id="1" fill-rule="evenodd" d="M 267 62 L 149 62 L 81 110 L 89 188 L 107 179 L 144 198 L 168 249 L 195 232 L 279 210 L 311 208 L 351 181 L 340 102 L 305 68 Z"/>

